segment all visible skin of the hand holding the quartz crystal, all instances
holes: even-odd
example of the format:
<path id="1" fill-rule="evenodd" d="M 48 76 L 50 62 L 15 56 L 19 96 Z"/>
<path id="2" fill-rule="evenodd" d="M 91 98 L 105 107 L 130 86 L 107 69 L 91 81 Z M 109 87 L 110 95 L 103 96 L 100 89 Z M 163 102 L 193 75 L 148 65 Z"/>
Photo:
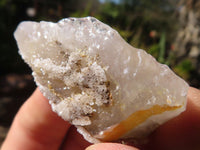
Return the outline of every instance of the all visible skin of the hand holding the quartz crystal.
<path id="1" fill-rule="evenodd" d="M 91 145 L 75 127 L 52 112 L 36 89 L 15 116 L 1 150 L 198 150 L 200 149 L 200 90 L 189 88 L 186 111 L 160 126 L 138 148 L 116 143 Z"/>

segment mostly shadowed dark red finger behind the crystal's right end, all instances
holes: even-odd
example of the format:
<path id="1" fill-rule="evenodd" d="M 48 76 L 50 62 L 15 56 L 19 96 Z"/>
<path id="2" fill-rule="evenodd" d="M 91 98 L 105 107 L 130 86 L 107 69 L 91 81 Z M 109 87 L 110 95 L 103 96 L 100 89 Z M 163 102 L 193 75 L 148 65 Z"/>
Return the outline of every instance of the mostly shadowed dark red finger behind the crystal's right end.
<path id="1" fill-rule="evenodd" d="M 200 149 L 200 90 L 188 91 L 186 111 L 160 126 L 146 149 Z"/>

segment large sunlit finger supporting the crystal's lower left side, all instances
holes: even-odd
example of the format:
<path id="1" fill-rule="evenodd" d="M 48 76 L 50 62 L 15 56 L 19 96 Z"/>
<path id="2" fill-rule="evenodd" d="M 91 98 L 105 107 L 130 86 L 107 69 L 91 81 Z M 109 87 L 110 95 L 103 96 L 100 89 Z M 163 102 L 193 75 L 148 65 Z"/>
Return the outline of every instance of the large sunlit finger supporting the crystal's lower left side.
<path id="1" fill-rule="evenodd" d="M 17 113 L 2 150 L 58 149 L 69 127 L 69 123 L 52 112 L 48 100 L 36 89 Z"/>

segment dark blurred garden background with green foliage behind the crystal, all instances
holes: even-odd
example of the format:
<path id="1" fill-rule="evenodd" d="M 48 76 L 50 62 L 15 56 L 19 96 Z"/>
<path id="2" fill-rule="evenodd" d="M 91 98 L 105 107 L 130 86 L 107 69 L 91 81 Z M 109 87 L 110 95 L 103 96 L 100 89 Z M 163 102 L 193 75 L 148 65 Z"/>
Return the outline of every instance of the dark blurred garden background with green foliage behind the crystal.
<path id="1" fill-rule="evenodd" d="M 0 0 L 0 145 L 21 104 L 35 89 L 13 37 L 24 20 L 94 16 L 131 45 L 200 88 L 198 0 Z"/>

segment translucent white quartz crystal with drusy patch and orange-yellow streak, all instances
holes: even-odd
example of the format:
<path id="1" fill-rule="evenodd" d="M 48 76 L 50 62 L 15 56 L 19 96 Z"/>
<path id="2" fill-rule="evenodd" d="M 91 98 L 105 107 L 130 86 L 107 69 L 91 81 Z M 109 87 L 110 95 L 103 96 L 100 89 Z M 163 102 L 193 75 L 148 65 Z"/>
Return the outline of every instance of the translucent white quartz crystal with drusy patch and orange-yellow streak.
<path id="1" fill-rule="evenodd" d="M 93 17 L 25 21 L 14 36 L 52 110 L 92 143 L 141 138 L 185 110 L 188 84 Z"/>

